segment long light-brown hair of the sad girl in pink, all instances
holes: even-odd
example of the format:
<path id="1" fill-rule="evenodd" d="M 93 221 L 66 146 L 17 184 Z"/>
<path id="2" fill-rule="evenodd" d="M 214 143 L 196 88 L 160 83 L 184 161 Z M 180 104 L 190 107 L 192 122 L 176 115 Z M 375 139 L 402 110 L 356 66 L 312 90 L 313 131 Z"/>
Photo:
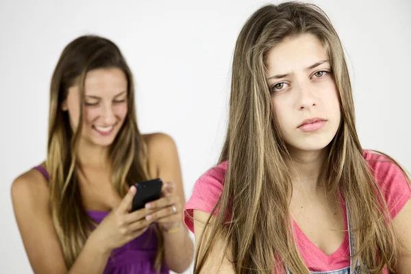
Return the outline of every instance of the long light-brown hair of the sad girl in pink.
<path id="1" fill-rule="evenodd" d="M 393 271 L 397 236 L 387 222 L 384 197 L 362 156 L 343 47 L 327 15 L 312 4 L 264 5 L 240 31 L 232 64 L 227 136 L 219 160 L 229 163 L 208 239 L 225 237 L 232 250 L 226 255 L 236 273 L 273 273 L 274 269 L 282 273 L 284 266 L 291 273 L 309 273 L 290 225 L 292 184 L 287 163 L 292 159 L 279 134 L 266 80 L 269 50 L 301 34 L 313 34 L 322 42 L 339 91 L 342 121 L 329 144 L 320 180 L 330 193 L 340 192 L 347 202 L 356 247 L 353 262 L 358 259 L 369 273 L 381 273 L 384 266 Z M 195 273 L 200 273 L 214 244 L 203 240 L 203 235 Z"/>

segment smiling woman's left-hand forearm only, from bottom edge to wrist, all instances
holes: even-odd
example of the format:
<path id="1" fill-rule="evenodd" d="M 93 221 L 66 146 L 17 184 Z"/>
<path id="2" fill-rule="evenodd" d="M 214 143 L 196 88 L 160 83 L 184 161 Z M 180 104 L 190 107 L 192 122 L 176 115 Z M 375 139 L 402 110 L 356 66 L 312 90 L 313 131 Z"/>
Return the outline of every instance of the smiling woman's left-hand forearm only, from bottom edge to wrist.
<path id="1" fill-rule="evenodd" d="M 109 257 L 110 252 L 101 249 L 90 235 L 69 274 L 101 274 Z"/>

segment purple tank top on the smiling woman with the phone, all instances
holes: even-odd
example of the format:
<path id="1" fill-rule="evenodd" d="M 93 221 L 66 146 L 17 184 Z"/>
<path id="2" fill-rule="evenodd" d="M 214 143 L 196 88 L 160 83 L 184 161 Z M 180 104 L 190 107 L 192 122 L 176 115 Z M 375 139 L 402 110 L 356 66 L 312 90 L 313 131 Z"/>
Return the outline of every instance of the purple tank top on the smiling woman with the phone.
<path id="1" fill-rule="evenodd" d="M 49 174 L 42 166 L 35 166 L 34 169 L 40 171 L 47 181 L 49 180 Z M 96 223 L 101 223 L 109 213 L 110 211 L 87 211 L 87 214 Z M 110 256 L 105 266 L 104 274 L 156 273 L 154 260 L 157 253 L 157 243 L 157 235 L 154 229 L 150 227 L 142 235 L 112 251 L 112 256 Z M 167 269 L 164 262 L 160 273 L 169 274 L 169 269 Z"/>

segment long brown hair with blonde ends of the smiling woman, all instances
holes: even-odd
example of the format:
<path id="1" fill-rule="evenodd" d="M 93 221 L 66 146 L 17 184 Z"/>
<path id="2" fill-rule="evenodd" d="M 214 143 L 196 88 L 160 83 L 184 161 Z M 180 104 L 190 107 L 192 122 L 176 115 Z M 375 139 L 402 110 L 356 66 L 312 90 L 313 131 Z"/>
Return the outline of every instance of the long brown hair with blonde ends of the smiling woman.
<path id="1" fill-rule="evenodd" d="M 110 40 L 99 36 L 81 36 L 67 45 L 60 55 L 53 72 L 50 87 L 49 138 L 47 142 L 46 166 L 49 172 L 50 206 L 53 224 L 64 254 L 66 266 L 70 269 L 75 262 L 92 229 L 92 220 L 82 205 L 79 193 L 80 169 L 77 159 L 79 139 L 82 134 L 83 113 L 75 132 L 71 129 L 67 112 L 61 105 L 71 86 L 79 85 L 84 104 L 84 79 L 92 69 L 119 68 L 128 82 L 128 112 L 118 135 L 109 149 L 112 164 L 112 184 L 116 192 L 124 197 L 127 186 L 149 178 L 147 151 L 137 127 L 134 103 L 132 72 L 127 66 L 119 48 Z M 160 269 L 163 260 L 162 238 L 155 268 Z"/>

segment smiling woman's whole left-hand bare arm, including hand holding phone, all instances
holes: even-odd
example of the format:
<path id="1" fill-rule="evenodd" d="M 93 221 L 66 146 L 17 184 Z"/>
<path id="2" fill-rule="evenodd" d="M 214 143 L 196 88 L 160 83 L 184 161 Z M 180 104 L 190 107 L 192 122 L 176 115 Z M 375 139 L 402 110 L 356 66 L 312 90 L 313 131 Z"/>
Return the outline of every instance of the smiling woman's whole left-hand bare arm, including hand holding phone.
<path id="1" fill-rule="evenodd" d="M 12 202 L 18 229 L 34 273 L 103 273 L 110 253 L 145 232 L 152 210 L 129 212 L 136 193 L 129 189 L 117 208 L 95 229 L 68 271 L 55 232 L 47 182 L 38 171 L 29 171 L 12 184 Z"/>

